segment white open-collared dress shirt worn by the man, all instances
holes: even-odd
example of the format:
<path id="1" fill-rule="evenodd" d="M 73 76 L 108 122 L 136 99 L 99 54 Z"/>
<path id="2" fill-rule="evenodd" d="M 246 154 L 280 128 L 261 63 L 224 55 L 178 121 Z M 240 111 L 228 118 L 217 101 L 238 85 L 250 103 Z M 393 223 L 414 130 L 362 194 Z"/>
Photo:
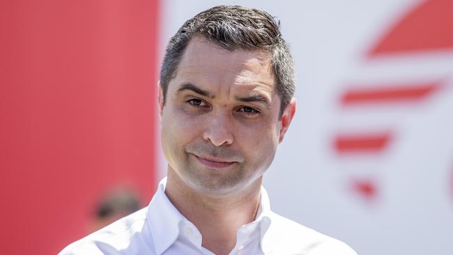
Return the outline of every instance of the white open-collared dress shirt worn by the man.
<path id="1" fill-rule="evenodd" d="M 197 227 L 169 201 L 166 183 L 167 178 L 160 181 L 148 207 L 73 242 L 59 255 L 214 255 L 201 246 Z M 256 219 L 241 226 L 236 237 L 230 255 L 357 255 L 343 242 L 272 212 L 264 188 Z"/>

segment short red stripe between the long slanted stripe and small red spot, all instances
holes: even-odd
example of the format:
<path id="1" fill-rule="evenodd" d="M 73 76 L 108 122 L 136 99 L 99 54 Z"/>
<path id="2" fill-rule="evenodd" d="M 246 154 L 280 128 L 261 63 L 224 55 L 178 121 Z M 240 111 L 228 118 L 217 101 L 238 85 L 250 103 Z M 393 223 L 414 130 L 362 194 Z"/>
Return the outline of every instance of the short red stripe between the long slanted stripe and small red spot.
<path id="1" fill-rule="evenodd" d="M 338 153 L 379 152 L 387 148 L 392 140 L 389 133 L 338 135 L 335 138 L 335 150 Z"/>

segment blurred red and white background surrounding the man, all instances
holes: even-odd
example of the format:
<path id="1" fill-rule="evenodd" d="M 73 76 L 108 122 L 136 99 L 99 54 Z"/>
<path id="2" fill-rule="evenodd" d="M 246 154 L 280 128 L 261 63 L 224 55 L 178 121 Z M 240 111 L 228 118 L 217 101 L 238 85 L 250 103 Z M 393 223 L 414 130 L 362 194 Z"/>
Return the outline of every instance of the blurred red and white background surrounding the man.
<path id="1" fill-rule="evenodd" d="M 453 254 L 453 2 L 0 1 L 2 254 L 56 254 L 146 206 L 167 40 L 218 4 L 281 21 L 298 110 L 272 209 L 358 254 Z"/>

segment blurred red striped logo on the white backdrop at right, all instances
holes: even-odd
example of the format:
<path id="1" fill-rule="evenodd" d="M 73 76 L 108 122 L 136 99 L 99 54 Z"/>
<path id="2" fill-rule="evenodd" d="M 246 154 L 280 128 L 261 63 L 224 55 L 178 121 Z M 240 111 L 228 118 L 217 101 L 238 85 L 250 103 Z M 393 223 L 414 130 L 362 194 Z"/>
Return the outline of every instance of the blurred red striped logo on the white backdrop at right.
<path id="1" fill-rule="evenodd" d="M 370 48 L 362 60 L 362 67 L 372 73 L 369 80 L 346 82 L 338 98 L 340 114 L 355 113 L 348 128 L 338 128 L 332 149 L 339 160 L 360 160 L 361 173 L 348 174 L 350 187 L 367 201 L 376 201 L 381 189 L 374 178 L 385 160 L 386 153 L 399 142 L 401 131 L 395 120 L 404 121 L 404 112 L 417 111 L 436 103 L 436 95 L 446 86 L 447 72 L 438 70 L 443 54 L 453 50 L 453 1 L 424 1 L 397 20 Z M 453 59 L 449 59 L 450 66 Z M 437 69 L 436 69 L 437 68 Z M 451 75 L 450 68 L 450 75 Z M 362 70 L 357 70 L 362 74 Z M 365 80 L 365 82 L 363 82 Z M 408 107 L 409 106 L 409 107 Z M 386 120 L 385 113 L 393 116 Z M 363 119 L 378 115 L 376 121 L 366 124 Z M 371 117 L 370 117 L 371 116 Z M 360 119 L 360 120 L 359 120 Z M 357 127 L 353 125 L 361 123 Z M 351 157 L 350 157 L 351 156 Z M 346 169 L 347 171 L 347 169 Z M 452 176 L 453 194 L 453 176 Z"/>

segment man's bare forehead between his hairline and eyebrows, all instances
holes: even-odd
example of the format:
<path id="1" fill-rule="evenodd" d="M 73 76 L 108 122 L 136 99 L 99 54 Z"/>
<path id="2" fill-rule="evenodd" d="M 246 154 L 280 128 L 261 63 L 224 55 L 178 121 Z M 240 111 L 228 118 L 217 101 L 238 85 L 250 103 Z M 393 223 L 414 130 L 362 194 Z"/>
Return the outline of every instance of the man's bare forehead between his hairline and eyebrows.
<path id="1" fill-rule="evenodd" d="M 256 88 L 269 92 L 275 84 L 270 52 L 231 51 L 197 38 L 187 45 L 174 80 L 195 82 L 199 86 L 209 84 L 210 88 L 228 84 L 237 89 Z"/>

